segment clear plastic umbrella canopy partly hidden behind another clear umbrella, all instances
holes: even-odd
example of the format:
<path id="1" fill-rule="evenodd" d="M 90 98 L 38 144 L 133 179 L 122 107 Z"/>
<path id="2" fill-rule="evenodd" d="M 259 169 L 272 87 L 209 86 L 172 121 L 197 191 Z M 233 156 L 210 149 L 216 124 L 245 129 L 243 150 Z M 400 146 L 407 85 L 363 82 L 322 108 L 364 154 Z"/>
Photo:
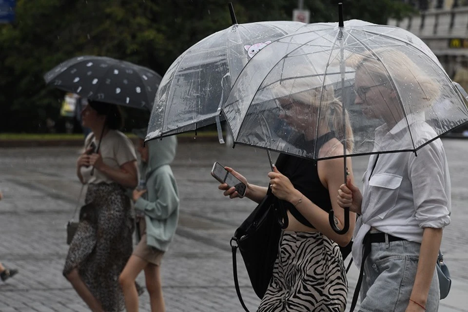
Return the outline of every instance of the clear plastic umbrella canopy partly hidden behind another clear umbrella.
<path id="1" fill-rule="evenodd" d="M 162 78 L 146 139 L 214 123 L 247 62 L 272 40 L 304 25 L 293 21 L 234 24 L 190 47 Z"/>

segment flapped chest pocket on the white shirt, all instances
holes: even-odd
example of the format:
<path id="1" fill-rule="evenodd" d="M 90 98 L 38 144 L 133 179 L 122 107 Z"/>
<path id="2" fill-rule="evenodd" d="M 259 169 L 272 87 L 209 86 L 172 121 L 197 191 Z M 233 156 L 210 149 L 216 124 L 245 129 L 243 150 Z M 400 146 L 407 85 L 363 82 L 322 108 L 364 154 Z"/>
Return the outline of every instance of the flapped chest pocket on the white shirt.
<path id="1" fill-rule="evenodd" d="M 394 207 L 400 193 L 402 176 L 381 173 L 370 177 L 369 208 L 372 216 L 378 216 L 383 219 Z"/>

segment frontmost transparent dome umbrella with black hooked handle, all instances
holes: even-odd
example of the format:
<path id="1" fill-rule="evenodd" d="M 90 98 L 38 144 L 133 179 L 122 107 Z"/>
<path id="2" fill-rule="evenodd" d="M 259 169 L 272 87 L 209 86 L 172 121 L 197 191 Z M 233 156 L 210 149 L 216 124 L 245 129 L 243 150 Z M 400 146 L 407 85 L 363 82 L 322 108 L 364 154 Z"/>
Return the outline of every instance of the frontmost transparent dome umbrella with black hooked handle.
<path id="1" fill-rule="evenodd" d="M 468 121 L 465 98 L 420 39 L 359 20 L 309 24 L 273 41 L 245 66 L 222 110 L 235 144 L 315 160 L 416 152 Z M 375 130 L 386 127 L 395 139 L 380 144 Z M 323 129 L 341 144 L 316 150 Z M 346 159 L 344 172 L 346 182 Z M 349 211 L 342 230 L 332 211 L 330 220 L 345 233 Z"/>

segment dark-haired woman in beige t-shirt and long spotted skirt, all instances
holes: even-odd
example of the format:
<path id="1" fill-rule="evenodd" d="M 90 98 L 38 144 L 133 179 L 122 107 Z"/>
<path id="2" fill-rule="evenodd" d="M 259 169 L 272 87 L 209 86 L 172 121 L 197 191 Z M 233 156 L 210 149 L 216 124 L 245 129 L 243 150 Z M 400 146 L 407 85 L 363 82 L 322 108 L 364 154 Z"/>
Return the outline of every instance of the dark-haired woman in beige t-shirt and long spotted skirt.
<path id="1" fill-rule="evenodd" d="M 93 213 L 79 222 L 63 275 L 91 311 L 121 311 L 118 276 L 132 254 L 134 231 L 125 188 L 137 186 L 137 156 L 130 139 L 117 130 L 122 126 L 118 106 L 90 101 L 81 117 L 92 132 L 78 157 L 77 176 L 88 186 L 85 203 Z"/>

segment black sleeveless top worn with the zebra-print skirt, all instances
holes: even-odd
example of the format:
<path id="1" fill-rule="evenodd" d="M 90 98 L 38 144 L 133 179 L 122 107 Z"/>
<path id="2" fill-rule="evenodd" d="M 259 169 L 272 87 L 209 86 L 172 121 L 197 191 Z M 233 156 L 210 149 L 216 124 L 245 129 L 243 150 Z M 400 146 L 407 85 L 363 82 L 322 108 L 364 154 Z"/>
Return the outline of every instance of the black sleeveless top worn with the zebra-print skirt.
<path id="1" fill-rule="evenodd" d="M 333 132 L 329 132 L 316 140 L 306 142 L 310 150 L 319 151 L 320 148 L 334 138 Z M 302 137 L 301 140 L 304 140 Z M 301 142 L 304 143 L 304 142 Z M 316 154 L 315 154 L 316 155 Z M 317 161 L 298 156 L 280 154 L 276 160 L 278 170 L 287 176 L 296 190 L 309 198 L 315 205 L 326 212 L 331 208 L 331 200 L 328 190 L 323 186 L 318 177 Z M 281 165 L 281 166 L 280 166 Z M 284 208 L 305 226 L 315 228 L 290 202 L 283 200 Z"/>

